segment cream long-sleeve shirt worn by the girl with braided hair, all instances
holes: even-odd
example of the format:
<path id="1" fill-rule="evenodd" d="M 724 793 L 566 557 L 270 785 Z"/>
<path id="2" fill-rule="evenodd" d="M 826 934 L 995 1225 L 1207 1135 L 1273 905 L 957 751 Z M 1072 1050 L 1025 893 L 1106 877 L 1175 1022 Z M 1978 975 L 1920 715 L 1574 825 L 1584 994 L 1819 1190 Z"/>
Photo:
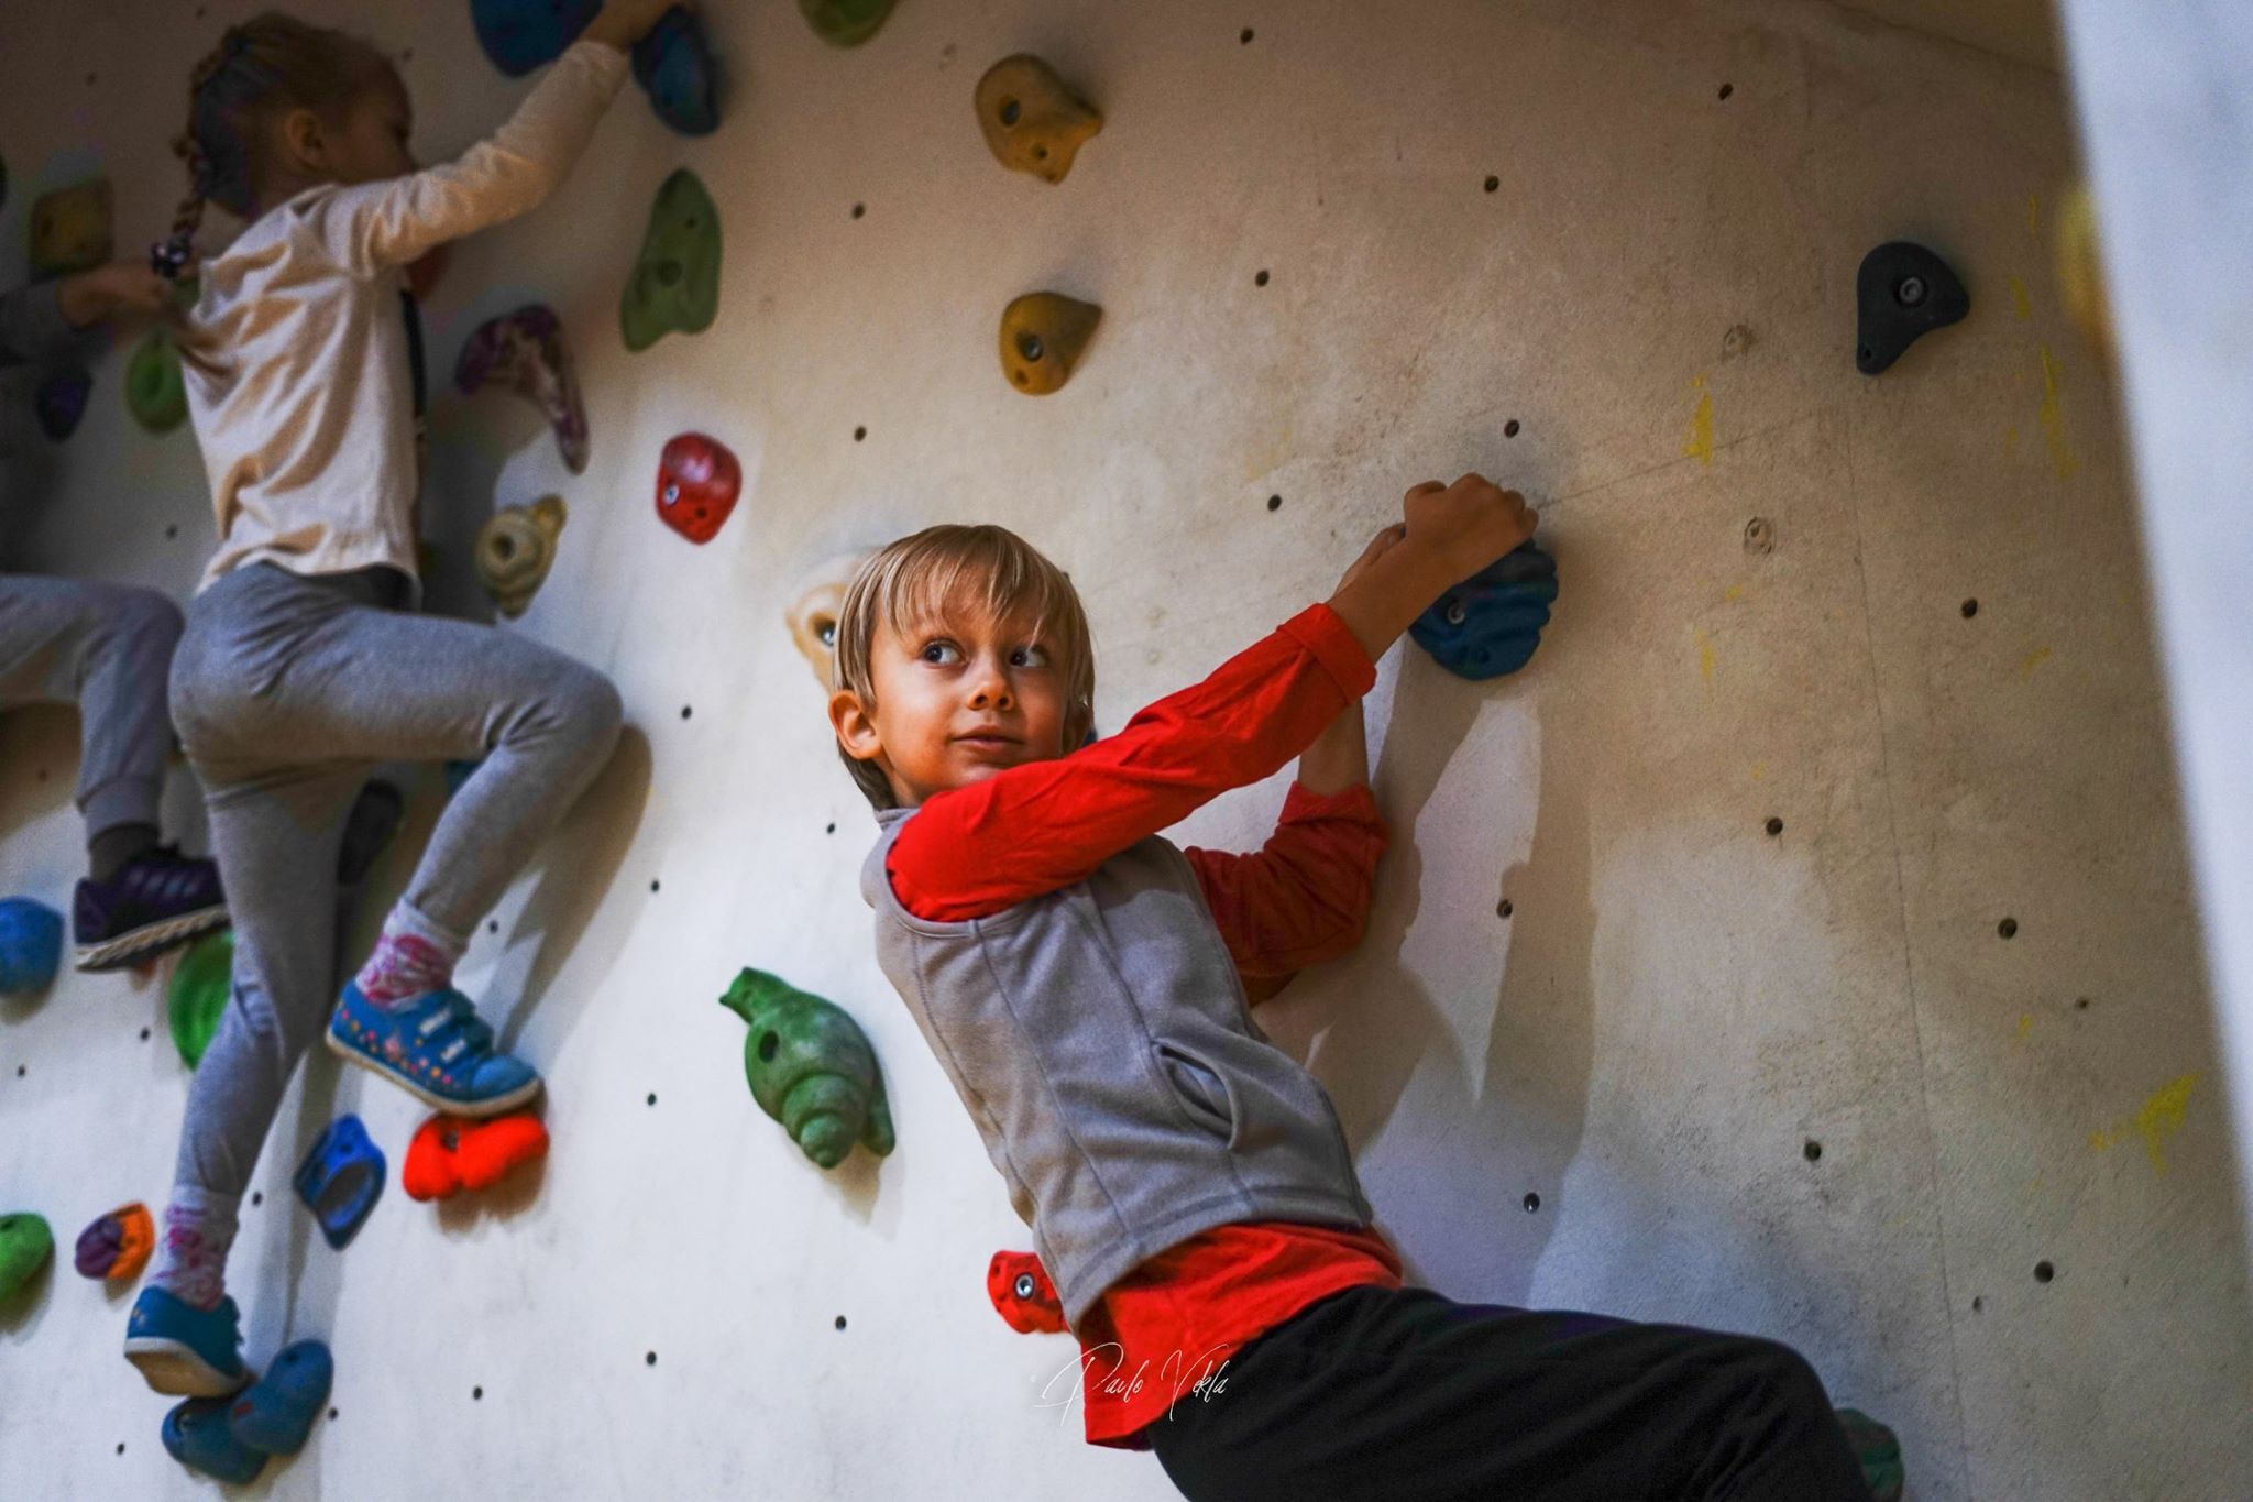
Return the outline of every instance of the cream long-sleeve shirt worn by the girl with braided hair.
<path id="1" fill-rule="evenodd" d="M 198 588 L 261 561 L 295 574 L 383 563 L 419 579 L 403 268 L 538 207 L 624 77 L 624 52 L 575 43 L 460 160 L 311 187 L 203 263 L 180 333 L 219 520 L 219 552 Z"/>

